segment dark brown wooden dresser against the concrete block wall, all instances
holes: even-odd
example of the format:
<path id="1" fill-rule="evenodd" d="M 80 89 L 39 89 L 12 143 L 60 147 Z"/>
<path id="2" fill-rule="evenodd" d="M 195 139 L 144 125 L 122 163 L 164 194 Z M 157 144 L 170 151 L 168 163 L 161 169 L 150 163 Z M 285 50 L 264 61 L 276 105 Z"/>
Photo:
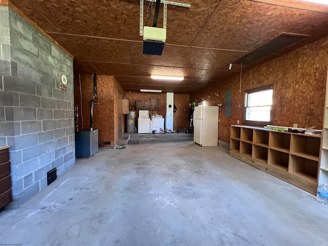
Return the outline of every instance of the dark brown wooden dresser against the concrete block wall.
<path id="1" fill-rule="evenodd" d="M 11 202 L 10 146 L 0 147 L 0 211 Z"/>

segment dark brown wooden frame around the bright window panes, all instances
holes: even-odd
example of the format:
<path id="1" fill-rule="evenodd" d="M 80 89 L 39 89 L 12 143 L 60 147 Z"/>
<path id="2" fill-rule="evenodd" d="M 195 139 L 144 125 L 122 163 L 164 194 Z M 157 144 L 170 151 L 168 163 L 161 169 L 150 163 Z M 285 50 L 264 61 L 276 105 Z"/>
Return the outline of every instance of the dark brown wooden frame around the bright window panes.
<path id="1" fill-rule="evenodd" d="M 246 108 L 247 108 L 247 99 L 246 96 L 249 93 L 254 92 L 260 92 L 272 89 L 272 105 L 270 110 L 270 121 L 257 121 L 257 120 L 246 120 Z M 245 90 L 243 93 L 243 117 L 242 117 L 242 124 L 243 125 L 253 125 L 253 126 L 267 126 L 267 125 L 273 125 L 273 119 L 274 119 L 274 84 L 270 84 L 267 86 L 261 86 L 249 90 Z"/>

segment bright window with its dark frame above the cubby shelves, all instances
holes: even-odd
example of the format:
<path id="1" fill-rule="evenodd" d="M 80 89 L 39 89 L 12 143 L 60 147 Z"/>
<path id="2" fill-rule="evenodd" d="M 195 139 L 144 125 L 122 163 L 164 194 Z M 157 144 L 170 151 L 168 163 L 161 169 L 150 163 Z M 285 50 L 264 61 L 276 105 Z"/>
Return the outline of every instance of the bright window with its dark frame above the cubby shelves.
<path id="1" fill-rule="evenodd" d="M 273 85 L 245 91 L 243 124 L 271 125 L 273 121 Z"/>

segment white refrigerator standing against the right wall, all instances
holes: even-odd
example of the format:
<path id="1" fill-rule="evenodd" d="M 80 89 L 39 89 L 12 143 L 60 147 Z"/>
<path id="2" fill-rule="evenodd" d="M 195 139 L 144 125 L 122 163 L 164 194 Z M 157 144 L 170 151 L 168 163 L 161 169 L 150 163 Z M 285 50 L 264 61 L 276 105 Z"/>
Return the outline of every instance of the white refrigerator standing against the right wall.
<path id="1" fill-rule="evenodd" d="M 195 107 L 193 122 L 194 142 L 196 142 L 200 146 L 217 146 L 219 107 Z"/>

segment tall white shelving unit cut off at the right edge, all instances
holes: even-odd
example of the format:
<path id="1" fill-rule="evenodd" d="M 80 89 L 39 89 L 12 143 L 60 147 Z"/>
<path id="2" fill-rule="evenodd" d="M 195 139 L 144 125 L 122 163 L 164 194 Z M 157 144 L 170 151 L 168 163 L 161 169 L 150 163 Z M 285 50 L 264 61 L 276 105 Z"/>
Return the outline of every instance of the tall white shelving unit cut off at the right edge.
<path id="1" fill-rule="evenodd" d="M 323 129 L 321 138 L 321 149 L 318 169 L 318 185 L 328 183 L 328 72 L 326 83 L 326 95 L 324 102 Z"/>

